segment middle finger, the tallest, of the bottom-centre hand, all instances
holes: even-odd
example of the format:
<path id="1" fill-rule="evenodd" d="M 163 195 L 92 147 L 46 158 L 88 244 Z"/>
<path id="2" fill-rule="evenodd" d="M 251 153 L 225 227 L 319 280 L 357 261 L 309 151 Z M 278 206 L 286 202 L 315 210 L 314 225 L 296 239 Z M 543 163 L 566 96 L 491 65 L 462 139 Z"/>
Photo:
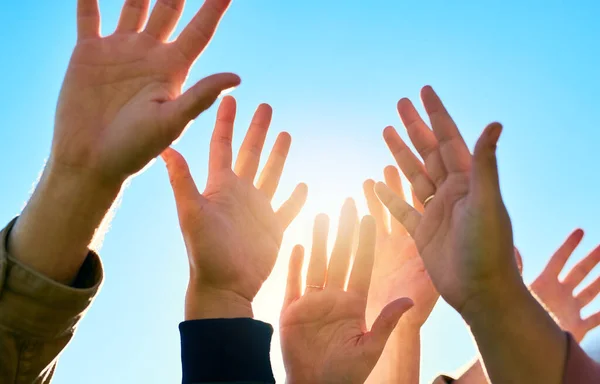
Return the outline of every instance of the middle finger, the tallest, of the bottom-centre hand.
<path id="1" fill-rule="evenodd" d="M 338 233 L 329 260 L 326 288 L 344 289 L 346 286 L 357 215 L 354 200 L 347 199 L 342 207 Z"/>

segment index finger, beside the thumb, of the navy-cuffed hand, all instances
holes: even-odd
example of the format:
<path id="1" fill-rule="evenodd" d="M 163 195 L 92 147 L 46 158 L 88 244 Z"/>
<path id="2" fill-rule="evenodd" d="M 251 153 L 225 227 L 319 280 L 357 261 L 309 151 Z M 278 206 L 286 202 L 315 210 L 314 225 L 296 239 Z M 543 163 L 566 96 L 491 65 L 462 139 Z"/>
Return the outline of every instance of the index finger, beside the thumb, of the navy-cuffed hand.
<path id="1" fill-rule="evenodd" d="M 236 101 L 231 96 L 225 96 L 217 111 L 217 122 L 210 140 L 208 157 L 209 179 L 211 174 L 225 169 L 231 169 L 233 140 L 233 123 L 236 114 Z"/>

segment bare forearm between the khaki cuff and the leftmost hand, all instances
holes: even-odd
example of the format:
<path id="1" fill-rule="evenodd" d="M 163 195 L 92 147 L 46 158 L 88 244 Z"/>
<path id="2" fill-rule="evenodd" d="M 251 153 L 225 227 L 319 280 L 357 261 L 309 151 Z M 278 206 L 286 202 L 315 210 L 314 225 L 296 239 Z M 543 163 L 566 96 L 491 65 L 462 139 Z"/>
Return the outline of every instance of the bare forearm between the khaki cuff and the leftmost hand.
<path id="1" fill-rule="evenodd" d="M 70 285 L 120 184 L 99 183 L 48 165 L 8 239 L 11 255 L 59 283 Z"/>

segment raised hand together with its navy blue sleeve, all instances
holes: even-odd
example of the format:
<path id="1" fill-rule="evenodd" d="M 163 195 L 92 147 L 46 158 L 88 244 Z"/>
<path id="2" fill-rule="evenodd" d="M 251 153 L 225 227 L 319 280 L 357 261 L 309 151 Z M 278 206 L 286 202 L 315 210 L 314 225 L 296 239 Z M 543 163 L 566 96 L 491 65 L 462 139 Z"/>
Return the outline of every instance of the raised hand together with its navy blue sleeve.
<path id="1" fill-rule="evenodd" d="M 179 327 L 184 384 L 274 383 L 273 329 L 253 320 L 252 301 L 273 269 L 283 233 L 302 208 L 307 189 L 300 184 L 279 210 L 271 208 L 291 138 L 278 136 L 255 185 L 272 109 L 258 107 L 233 166 L 235 114 L 235 99 L 225 97 L 203 193 L 184 157 L 173 149 L 163 153 L 190 265 L 185 321 Z"/>

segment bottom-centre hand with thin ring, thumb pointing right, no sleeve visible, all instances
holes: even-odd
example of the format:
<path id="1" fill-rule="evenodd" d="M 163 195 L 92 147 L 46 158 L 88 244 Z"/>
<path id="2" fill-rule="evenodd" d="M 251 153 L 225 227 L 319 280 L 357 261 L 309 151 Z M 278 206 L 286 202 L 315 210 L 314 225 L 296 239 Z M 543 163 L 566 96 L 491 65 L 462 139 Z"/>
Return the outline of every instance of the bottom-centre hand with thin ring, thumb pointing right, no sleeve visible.
<path id="1" fill-rule="evenodd" d="M 327 216 L 315 221 L 307 288 L 302 295 L 303 249 L 290 260 L 280 333 L 288 383 L 363 383 L 381 355 L 410 299 L 388 304 L 367 332 L 365 307 L 375 251 L 375 222 L 365 217 L 348 281 L 356 207 L 342 208 L 338 236 L 327 267 Z M 323 288 L 321 288 L 323 287 Z"/>

